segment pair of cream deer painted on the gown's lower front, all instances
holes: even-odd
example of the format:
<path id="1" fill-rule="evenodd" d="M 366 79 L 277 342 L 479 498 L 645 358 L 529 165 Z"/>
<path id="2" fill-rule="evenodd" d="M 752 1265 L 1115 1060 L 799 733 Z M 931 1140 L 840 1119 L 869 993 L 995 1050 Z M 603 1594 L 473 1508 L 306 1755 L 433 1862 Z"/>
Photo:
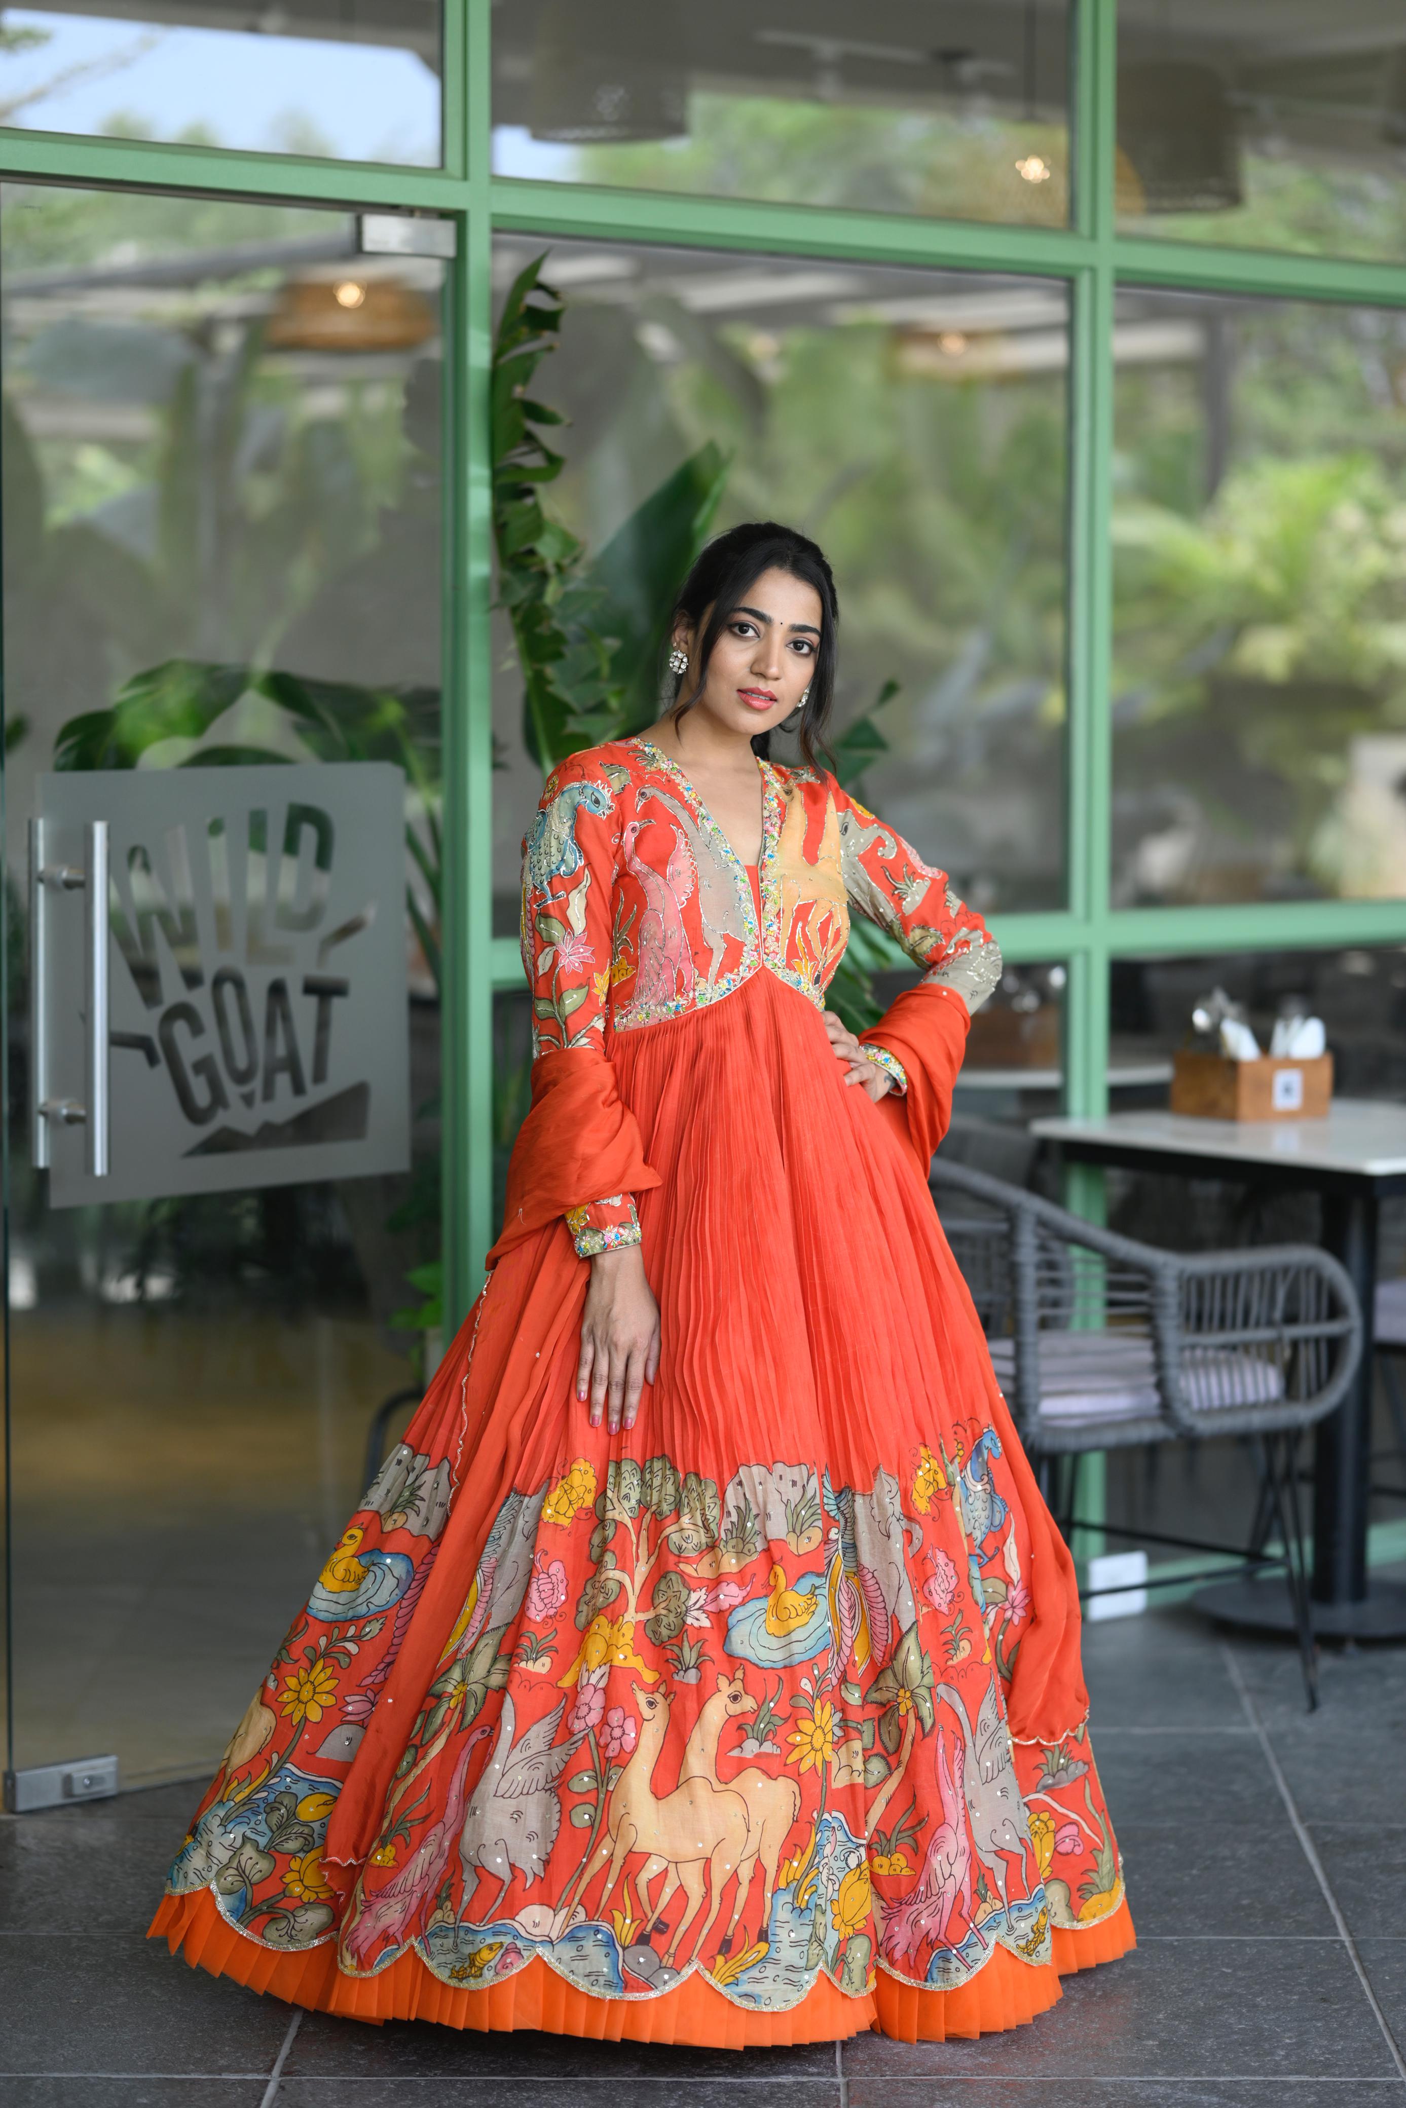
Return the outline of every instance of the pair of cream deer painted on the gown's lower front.
<path id="1" fill-rule="evenodd" d="M 609 1872 L 601 1891 L 601 1901 L 592 1916 L 605 1918 L 607 1904 L 620 1885 L 626 1861 L 632 1853 L 643 1853 L 645 1863 L 634 1874 L 634 1899 L 639 1916 L 649 1929 L 668 1908 L 677 1889 L 683 1889 L 685 1912 L 675 1927 L 664 1950 L 664 1967 L 675 1967 L 675 1956 L 685 1935 L 708 1904 L 691 1952 L 702 1954 L 708 1933 L 723 1908 L 723 1891 L 742 1868 L 746 1857 L 748 1813 L 742 1794 L 731 1788 L 719 1790 L 708 1779 L 683 1779 L 672 1794 L 662 1798 L 653 1792 L 653 1769 L 668 1733 L 670 1699 L 664 1691 L 645 1691 L 630 1684 L 641 1712 L 639 1741 L 628 1764 L 616 1781 L 607 1815 L 605 1838 L 597 1847 L 590 1876 L 609 1859 Z M 649 1899 L 649 1882 L 666 1872 L 658 1901 Z M 736 1927 L 742 1904 L 731 1914 Z"/>

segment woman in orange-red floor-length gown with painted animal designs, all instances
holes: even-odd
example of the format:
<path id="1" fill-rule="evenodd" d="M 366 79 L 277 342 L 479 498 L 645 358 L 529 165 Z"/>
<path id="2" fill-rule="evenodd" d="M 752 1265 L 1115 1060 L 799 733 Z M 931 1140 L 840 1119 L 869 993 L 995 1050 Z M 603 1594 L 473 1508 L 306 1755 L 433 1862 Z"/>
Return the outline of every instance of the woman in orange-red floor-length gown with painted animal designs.
<path id="1" fill-rule="evenodd" d="M 489 1286 L 175 1861 L 192 1963 L 746 2047 L 1008 2028 L 1132 1946 L 1073 1568 L 925 1183 L 999 955 L 816 765 L 835 626 L 814 542 L 736 527 L 670 708 L 546 784 Z M 923 968 L 858 1041 L 854 909 Z"/>

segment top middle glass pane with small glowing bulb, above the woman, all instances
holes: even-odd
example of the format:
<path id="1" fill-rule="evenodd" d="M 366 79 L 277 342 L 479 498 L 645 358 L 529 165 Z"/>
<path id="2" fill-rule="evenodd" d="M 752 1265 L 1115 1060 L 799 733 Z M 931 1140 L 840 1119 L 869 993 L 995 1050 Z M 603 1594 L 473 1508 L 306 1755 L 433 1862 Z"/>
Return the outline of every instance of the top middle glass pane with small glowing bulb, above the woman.
<path id="1" fill-rule="evenodd" d="M 1062 226 L 1069 44 L 1069 0 L 516 0 L 493 11 L 493 167 Z"/>

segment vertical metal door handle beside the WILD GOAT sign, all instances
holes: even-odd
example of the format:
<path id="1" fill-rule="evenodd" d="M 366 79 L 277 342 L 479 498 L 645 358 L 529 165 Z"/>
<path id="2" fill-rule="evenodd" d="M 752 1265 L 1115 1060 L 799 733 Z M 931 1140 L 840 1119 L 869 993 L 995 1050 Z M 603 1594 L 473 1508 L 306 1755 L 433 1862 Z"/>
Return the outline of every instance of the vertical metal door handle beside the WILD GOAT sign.
<path id="1" fill-rule="evenodd" d="M 108 822 L 89 820 L 86 862 L 82 871 L 72 864 L 44 862 L 44 820 L 30 820 L 30 1098 L 32 1098 L 32 1147 L 36 1170 L 48 1170 L 51 1121 L 86 1128 L 86 1172 L 89 1178 L 105 1178 L 112 1162 L 110 1151 L 110 1001 L 108 1001 Z M 84 1102 L 48 1096 L 48 887 L 59 892 L 84 892 L 84 982 L 86 982 L 86 1029 L 84 1029 Z"/>

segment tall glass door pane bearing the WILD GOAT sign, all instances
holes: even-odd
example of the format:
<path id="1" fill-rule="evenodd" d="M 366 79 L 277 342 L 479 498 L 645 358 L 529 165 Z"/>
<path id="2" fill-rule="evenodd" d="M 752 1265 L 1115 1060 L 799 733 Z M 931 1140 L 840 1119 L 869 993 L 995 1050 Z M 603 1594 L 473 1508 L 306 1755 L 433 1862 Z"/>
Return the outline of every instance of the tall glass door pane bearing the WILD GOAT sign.
<path id="1" fill-rule="evenodd" d="M 133 1783 L 211 1769 L 354 1507 L 373 1412 L 415 1381 L 413 1332 L 392 1318 L 422 1301 L 405 1275 L 438 1250 L 443 266 L 356 257 L 339 213 L 57 188 L 4 188 L 0 240 L 13 1760 L 116 1750 Z M 116 266 L 118 249 L 143 261 Z M 129 959 L 150 944 L 156 1001 L 181 997 L 148 1027 L 167 1126 L 160 1060 L 179 1092 L 171 1048 L 202 1043 L 219 1058 L 192 1073 L 226 1100 L 219 1147 L 261 1153 L 230 1191 L 55 1206 L 32 1153 L 23 938 L 40 778 L 59 765 L 51 784 L 78 797 L 164 782 L 175 814 L 255 774 L 293 780 L 287 763 L 335 780 L 335 799 L 371 767 L 390 784 L 377 894 L 356 890 L 369 843 L 346 826 L 329 843 L 331 898 L 350 890 L 371 921 L 327 932 L 323 1010 L 301 953 L 323 942 L 329 860 L 289 866 L 282 837 L 276 881 L 276 818 L 247 854 L 232 831 L 200 837 L 202 862 L 185 833 L 190 930 L 175 890 L 154 892 L 177 871 L 171 833 L 152 837 L 154 877 L 114 856 L 126 900 L 145 883 L 135 930 L 112 923 L 114 1027 L 120 1001 L 143 1014 Z M 82 774 L 120 765 L 135 774 Z M 333 809 L 331 790 L 316 799 Z M 280 982 L 238 938 L 259 866 L 291 959 Z M 63 900 L 44 896 L 57 923 Z M 221 915 L 238 970 L 211 974 L 209 953 L 230 953 Z M 291 1121 L 310 1117 L 295 1107 L 327 1102 L 320 1073 L 335 1081 L 346 1054 L 337 997 L 348 980 L 356 995 L 377 925 L 409 1037 L 413 1168 L 282 1183 L 263 1124 L 295 1143 Z M 255 1029 L 240 1039 L 245 984 Z M 55 1035 L 51 1060 L 65 1052 Z M 114 1170 L 135 1071 L 141 1052 L 114 1043 Z"/>

